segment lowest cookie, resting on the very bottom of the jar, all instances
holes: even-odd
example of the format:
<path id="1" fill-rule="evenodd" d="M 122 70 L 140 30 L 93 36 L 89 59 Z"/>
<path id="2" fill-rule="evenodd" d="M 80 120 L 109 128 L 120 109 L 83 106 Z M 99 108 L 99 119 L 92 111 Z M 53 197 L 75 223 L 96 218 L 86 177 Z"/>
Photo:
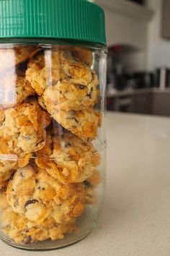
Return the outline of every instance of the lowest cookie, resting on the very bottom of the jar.
<path id="1" fill-rule="evenodd" d="M 1 230 L 17 244 L 31 244 L 46 239 L 63 239 L 65 234 L 76 230 L 74 220 L 56 223 L 53 218 L 46 218 L 40 225 L 19 215 L 12 207 L 3 210 Z"/>

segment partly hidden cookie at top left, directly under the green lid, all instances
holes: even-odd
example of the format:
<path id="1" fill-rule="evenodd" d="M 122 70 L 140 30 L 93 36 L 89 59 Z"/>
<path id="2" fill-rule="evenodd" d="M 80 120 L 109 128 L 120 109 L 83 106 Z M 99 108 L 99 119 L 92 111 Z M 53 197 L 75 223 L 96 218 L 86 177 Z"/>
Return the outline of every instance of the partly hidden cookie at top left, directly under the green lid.
<path id="1" fill-rule="evenodd" d="M 5 69 L 9 69 L 21 64 L 34 56 L 40 47 L 37 46 L 12 46 L 11 48 L 0 48 L 0 74 Z"/>

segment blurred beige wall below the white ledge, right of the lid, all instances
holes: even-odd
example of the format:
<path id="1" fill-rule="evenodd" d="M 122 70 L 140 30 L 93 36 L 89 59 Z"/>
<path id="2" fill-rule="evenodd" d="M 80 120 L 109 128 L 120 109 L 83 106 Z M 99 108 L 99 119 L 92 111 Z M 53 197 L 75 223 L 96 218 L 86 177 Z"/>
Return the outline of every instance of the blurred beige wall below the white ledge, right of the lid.
<path id="1" fill-rule="evenodd" d="M 127 56 L 128 71 L 146 69 L 147 23 L 134 17 L 104 9 L 106 17 L 107 45 L 125 44 L 138 48 Z"/>

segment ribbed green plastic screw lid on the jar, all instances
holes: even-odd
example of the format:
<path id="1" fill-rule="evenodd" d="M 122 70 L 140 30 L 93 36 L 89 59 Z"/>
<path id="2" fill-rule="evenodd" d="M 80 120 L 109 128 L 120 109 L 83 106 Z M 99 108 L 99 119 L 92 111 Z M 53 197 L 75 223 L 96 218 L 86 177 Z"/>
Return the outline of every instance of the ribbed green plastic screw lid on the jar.
<path id="1" fill-rule="evenodd" d="M 0 38 L 60 38 L 106 45 L 104 11 L 86 0 L 0 0 Z"/>

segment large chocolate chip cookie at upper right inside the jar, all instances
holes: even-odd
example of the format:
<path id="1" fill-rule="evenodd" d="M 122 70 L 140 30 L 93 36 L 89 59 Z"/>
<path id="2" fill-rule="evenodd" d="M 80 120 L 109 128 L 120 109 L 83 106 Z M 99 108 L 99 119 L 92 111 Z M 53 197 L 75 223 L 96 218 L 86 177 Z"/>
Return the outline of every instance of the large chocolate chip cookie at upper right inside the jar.
<path id="1" fill-rule="evenodd" d="M 73 59 L 70 51 L 38 54 L 29 61 L 26 78 L 53 111 L 90 108 L 98 100 L 96 72 Z"/>

